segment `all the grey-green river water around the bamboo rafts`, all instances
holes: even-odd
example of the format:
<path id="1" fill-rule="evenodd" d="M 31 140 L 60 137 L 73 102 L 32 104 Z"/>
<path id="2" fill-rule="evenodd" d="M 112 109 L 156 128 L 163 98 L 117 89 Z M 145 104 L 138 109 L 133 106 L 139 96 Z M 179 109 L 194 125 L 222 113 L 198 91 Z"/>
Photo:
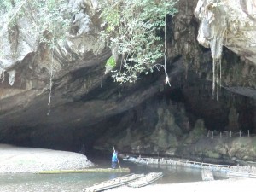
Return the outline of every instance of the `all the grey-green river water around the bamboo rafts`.
<path id="1" fill-rule="evenodd" d="M 109 167 L 110 160 L 92 160 L 97 167 Z M 178 166 L 141 166 L 120 161 L 122 167 L 129 167 L 131 173 L 163 172 L 164 176 L 155 183 L 186 183 L 201 181 L 201 170 Z M 0 174 L 0 192 L 78 192 L 94 183 L 99 183 L 127 173 L 65 173 Z"/>

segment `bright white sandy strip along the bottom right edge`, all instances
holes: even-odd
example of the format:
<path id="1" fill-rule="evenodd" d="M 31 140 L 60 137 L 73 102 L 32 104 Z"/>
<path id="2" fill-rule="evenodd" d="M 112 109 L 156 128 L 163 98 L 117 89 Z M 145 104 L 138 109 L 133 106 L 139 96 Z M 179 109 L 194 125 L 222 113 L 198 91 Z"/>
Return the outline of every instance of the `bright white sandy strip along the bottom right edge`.
<path id="1" fill-rule="evenodd" d="M 256 179 L 226 179 L 208 182 L 152 184 L 143 188 L 119 187 L 108 192 L 255 192 Z"/>

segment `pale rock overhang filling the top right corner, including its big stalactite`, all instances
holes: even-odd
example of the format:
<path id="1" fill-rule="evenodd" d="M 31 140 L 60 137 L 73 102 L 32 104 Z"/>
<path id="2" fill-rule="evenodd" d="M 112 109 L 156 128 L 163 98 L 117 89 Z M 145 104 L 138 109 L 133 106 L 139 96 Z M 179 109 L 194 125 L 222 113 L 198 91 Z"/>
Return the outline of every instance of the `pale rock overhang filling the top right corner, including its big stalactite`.
<path id="1" fill-rule="evenodd" d="M 255 67 L 256 40 L 254 37 L 256 32 L 253 30 L 256 27 L 255 15 L 256 2 L 254 0 L 198 1 L 195 8 L 195 16 L 200 20 L 197 39 L 201 45 L 210 48 L 212 52 L 213 90 L 216 82 L 227 90 L 255 98 L 254 83 L 250 84 L 251 86 L 230 86 L 230 84 L 225 84 L 228 83 L 227 79 L 219 71 L 222 67 L 223 46 L 240 55 L 242 60 L 250 61 Z M 222 81 L 221 76 L 226 79 L 225 82 Z M 239 74 L 238 77 L 241 79 L 244 74 Z M 254 73 L 249 77 L 255 77 Z"/>

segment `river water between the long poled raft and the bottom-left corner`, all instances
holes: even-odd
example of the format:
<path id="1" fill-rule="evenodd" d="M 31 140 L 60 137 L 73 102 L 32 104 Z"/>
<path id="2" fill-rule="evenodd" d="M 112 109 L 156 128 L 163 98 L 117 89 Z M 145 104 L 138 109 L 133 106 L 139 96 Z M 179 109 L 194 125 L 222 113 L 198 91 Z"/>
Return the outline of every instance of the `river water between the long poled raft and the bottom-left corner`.
<path id="1" fill-rule="evenodd" d="M 82 191 L 94 183 L 119 176 L 116 173 L 2 174 L 0 191 Z"/>

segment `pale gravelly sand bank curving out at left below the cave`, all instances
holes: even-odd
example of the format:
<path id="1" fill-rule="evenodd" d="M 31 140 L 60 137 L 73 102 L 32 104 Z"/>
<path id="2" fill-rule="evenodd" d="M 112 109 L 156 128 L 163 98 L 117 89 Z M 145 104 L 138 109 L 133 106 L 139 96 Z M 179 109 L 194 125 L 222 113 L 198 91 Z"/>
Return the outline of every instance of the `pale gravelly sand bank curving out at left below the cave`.
<path id="1" fill-rule="evenodd" d="M 83 154 L 0 144 L 0 173 L 82 169 L 93 166 Z"/>

